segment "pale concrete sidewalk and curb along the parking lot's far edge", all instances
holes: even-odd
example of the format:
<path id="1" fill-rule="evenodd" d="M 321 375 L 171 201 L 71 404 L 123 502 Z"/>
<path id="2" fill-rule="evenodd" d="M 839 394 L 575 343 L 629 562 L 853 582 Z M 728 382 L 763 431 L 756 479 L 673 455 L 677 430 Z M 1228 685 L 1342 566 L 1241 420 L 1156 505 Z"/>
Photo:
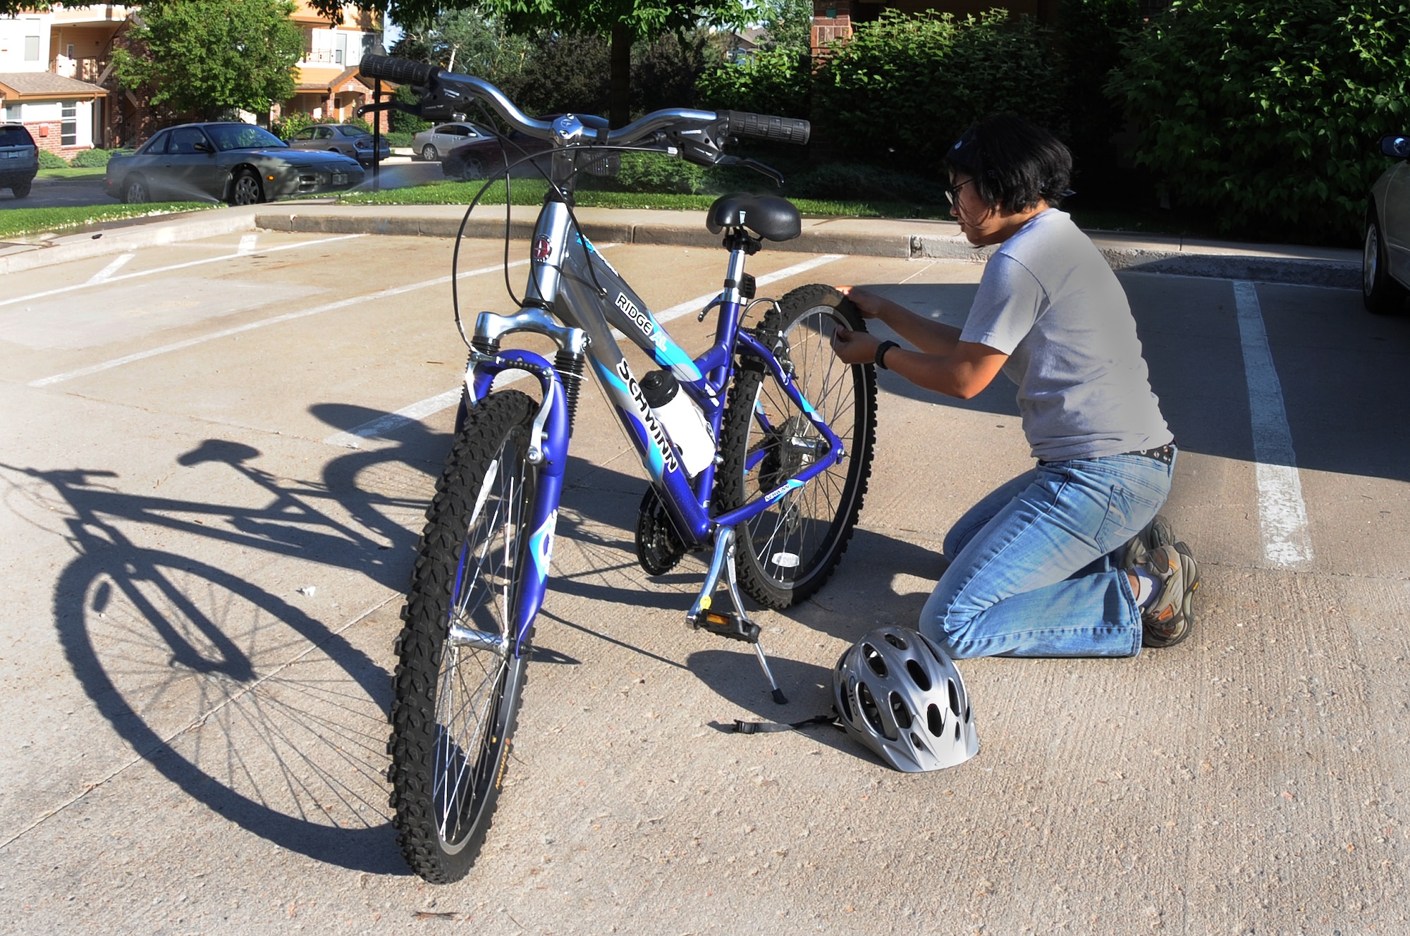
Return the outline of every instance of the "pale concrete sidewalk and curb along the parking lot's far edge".
<path id="1" fill-rule="evenodd" d="M 54 237 L 44 247 L 7 245 L 0 248 L 0 273 L 243 230 L 454 237 L 464 214 L 464 206 L 457 204 L 298 202 L 217 209 L 169 221 L 116 226 L 100 234 Z M 536 217 L 537 207 L 515 206 L 510 235 L 527 240 Z M 705 230 L 704 211 L 584 207 L 577 217 L 584 234 L 602 244 L 719 244 L 719 237 Z M 465 237 L 471 238 L 498 238 L 503 231 L 503 206 L 478 209 L 465 224 Z M 1089 234 L 1114 269 L 1348 289 L 1361 283 L 1356 250 L 1191 241 L 1117 231 Z M 897 218 L 804 218 L 798 238 L 770 242 L 767 250 L 973 262 L 983 262 L 993 252 L 970 247 L 950 221 Z"/>

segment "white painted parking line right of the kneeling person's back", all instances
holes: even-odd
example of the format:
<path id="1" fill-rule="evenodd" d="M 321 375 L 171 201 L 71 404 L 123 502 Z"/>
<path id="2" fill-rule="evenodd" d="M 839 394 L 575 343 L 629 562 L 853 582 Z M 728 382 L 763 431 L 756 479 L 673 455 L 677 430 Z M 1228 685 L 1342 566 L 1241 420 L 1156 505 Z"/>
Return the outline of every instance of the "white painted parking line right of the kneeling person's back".
<path id="1" fill-rule="evenodd" d="M 1253 423 L 1253 461 L 1258 479 L 1258 523 L 1263 533 L 1263 558 L 1287 567 L 1310 562 L 1313 543 L 1307 531 L 1307 505 L 1297 475 L 1293 436 L 1283 407 L 1283 386 L 1273 368 L 1268 331 L 1258 303 L 1258 288 L 1234 283 L 1238 333 L 1244 345 L 1248 409 Z"/>

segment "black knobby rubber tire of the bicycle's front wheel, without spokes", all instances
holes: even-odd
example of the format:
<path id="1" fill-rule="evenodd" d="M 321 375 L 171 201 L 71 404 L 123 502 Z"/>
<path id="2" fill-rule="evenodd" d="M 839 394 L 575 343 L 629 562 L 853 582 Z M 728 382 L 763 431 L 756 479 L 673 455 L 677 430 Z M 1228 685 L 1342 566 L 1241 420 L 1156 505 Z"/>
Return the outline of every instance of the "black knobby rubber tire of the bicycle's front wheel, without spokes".
<path id="1" fill-rule="evenodd" d="M 450 884 L 462 878 L 475 863 L 489 832 L 505 761 L 513 740 L 523 684 L 527 681 L 527 655 L 512 661 L 499 699 L 509 695 L 510 710 L 505 730 L 489 754 L 501 758 L 496 778 L 485 795 L 477 826 L 464 847 L 447 853 L 440 843 L 436 823 L 436 701 L 441 650 L 448 630 L 451 589 L 465 526 L 475 506 L 489 464 L 499 457 L 505 441 L 517 429 L 527 431 L 537 405 L 517 390 L 501 390 L 470 407 L 464 426 L 457 431 L 446 468 L 436 482 L 436 495 L 426 510 L 416 565 L 406 605 L 403 627 L 396 639 L 396 670 L 392 675 L 392 756 L 388 780 L 392 785 L 391 806 L 402 856 L 412 871 L 431 884 Z M 517 568 L 517 567 L 516 567 Z M 513 682 L 517 681 L 517 685 Z"/>

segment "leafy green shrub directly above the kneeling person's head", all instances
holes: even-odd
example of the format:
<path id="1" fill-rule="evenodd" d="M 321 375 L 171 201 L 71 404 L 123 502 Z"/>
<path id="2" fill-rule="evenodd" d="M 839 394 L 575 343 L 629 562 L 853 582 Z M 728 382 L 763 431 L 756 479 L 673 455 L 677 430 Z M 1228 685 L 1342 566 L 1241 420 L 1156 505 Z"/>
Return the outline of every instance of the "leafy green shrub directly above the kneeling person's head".
<path id="1" fill-rule="evenodd" d="M 830 51 L 814 114 L 833 144 L 871 161 L 939 172 L 964 128 L 1000 111 L 1066 133 L 1052 34 L 1029 17 L 887 10 Z"/>

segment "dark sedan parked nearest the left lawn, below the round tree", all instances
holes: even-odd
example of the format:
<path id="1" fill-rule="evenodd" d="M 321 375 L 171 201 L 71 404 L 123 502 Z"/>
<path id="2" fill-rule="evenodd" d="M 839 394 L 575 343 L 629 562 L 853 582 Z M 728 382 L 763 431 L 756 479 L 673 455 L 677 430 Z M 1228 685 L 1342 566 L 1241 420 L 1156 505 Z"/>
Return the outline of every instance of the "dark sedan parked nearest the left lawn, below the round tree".
<path id="1" fill-rule="evenodd" d="M 254 124 L 182 124 L 107 164 L 104 186 L 120 202 L 207 200 L 257 204 L 290 195 L 338 192 L 362 182 L 355 159 L 290 149 Z"/>

